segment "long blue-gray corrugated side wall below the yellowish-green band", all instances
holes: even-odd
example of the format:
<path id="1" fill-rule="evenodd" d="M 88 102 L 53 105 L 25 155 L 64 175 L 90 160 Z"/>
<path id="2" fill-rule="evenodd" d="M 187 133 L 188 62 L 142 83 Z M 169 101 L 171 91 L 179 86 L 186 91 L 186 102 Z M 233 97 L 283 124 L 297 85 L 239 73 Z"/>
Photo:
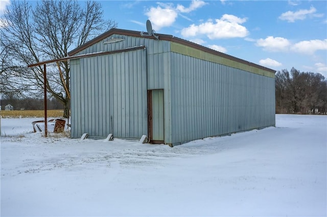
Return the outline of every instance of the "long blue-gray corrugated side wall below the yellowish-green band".
<path id="1" fill-rule="evenodd" d="M 274 79 L 171 53 L 172 143 L 275 125 Z"/>

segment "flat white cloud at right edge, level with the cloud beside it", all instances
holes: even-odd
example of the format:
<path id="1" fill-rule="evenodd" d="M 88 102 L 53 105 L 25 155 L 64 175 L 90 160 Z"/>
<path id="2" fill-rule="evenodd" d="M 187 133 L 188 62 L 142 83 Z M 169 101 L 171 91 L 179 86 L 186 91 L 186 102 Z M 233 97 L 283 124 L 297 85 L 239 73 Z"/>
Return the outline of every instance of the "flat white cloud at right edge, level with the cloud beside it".
<path id="1" fill-rule="evenodd" d="M 317 50 L 327 50 L 327 39 L 300 41 L 291 47 L 297 53 L 314 54 Z"/>

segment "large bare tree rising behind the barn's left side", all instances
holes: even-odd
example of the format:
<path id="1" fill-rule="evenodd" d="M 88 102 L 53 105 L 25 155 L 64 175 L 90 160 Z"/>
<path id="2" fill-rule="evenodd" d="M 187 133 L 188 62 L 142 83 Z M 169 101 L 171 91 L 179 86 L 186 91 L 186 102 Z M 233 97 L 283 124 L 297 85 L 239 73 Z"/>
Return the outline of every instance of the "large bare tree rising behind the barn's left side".
<path id="1" fill-rule="evenodd" d="M 39 94 L 44 85 L 43 67 L 27 65 L 66 57 L 69 50 L 116 26 L 114 21 L 103 19 L 99 2 L 86 2 L 81 7 L 77 1 L 42 1 L 32 7 L 27 1 L 13 1 L 0 19 L 2 86 L 18 83 L 16 89 Z M 62 78 L 56 64 L 48 67 L 47 88 L 63 104 L 63 116 L 68 117 L 69 64 L 58 64 Z"/>

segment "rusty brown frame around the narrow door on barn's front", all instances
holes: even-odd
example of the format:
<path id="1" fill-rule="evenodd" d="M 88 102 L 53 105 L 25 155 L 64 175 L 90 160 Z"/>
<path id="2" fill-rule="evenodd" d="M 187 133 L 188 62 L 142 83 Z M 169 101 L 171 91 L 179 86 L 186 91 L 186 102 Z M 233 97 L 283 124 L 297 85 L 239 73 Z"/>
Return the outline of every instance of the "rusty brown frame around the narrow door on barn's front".
<path id="1" fill-rule="evenodd" d="M 152 108 L 152 90 L 162 90 L 162 106 L 163 106 L 163 111 L 164 111 L 164 140 L 153 140 L 153 122 L 152 122 L 152 113 L 153 113 L 153 108 Z M 149 142 L 152 144 L 164 144 L 165 143 L 165 108 L 164 108 L 164 102 L 165 102 L 165 94 L 164 94 L 164 89 L 151 89 L 148 90 L 148 138 Z"/>

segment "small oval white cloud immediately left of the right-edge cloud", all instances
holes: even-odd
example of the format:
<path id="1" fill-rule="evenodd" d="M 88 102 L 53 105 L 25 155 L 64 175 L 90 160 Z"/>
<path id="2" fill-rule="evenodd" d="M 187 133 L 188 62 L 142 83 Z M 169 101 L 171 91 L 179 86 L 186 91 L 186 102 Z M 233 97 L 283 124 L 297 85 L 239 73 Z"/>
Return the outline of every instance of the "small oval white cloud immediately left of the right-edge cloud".
<path id="1" fill-rule="evenodd" d="M 255 45 L 263 47 L 266 51 L 278 52 L 287 51 L 290 44 L 286 38 L 268 36 L 266 39 L 257 40 Z"/>

